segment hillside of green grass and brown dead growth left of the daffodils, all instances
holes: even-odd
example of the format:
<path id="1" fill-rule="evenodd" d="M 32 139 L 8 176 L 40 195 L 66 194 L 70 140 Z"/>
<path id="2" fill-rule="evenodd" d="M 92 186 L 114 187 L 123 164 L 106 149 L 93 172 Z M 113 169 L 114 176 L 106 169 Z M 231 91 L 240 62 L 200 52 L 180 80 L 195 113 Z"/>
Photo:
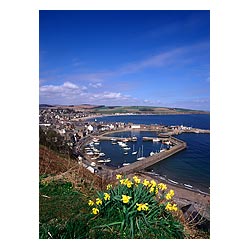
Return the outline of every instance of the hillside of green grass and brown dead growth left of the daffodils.
<path id="1" fill-rule="evenodd" d="M 44 146 L 40 146 L 39 157 L 39 237 L 115 238 L 89 226 L 88 201 L 96 197 L 98 190 L 104 190 L 107 183 Z M 189 234 L 190 238 L 207 237 L 194 230 Z"/>

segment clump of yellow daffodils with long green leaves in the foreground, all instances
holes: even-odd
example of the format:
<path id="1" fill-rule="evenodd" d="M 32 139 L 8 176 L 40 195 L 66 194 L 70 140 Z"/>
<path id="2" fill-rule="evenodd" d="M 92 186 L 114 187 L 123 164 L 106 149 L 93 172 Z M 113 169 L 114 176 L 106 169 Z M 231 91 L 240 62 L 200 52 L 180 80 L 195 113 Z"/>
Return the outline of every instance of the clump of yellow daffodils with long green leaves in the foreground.
<path id="1" fill-rule="evenodd" d="M 108 184 L 105 192 L 97 193 L 95 202 L 88 202 L 91 213 L 96 216 L 95 222 L 98 224 L 96 220 L 101 219 L 102 224 L 97 228 L 108 230 L 112 227 L 112 230 L 116 229 L 120 234 L 126 232 L 130 238 L 134 238 L 135 235 L 142 236 L 143 231 L 151 227 L 154 230 L 156 220 L 160 221 L 159 226 L 162 229 L 170 227 L 168 220 L 173 218 L 172 213 L 178 210 L 172 201 L 172 189 L 167 192 L 166 184 L 141 180 L 138 176 L 129 179 L 118 174 L 116 179 L 117 185 Z M 95 205 L 97 207 L 94 207 Z M 109 223 L 103 223 L 104 218 Z"/>

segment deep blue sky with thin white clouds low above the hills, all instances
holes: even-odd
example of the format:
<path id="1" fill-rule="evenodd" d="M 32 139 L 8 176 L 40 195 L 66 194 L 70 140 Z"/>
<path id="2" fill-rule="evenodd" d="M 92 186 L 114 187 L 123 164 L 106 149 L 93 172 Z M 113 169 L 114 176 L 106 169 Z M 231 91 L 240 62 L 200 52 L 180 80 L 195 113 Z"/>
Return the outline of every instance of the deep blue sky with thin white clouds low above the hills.
<path id="1" fill-rule="evenodd" d="M 39 102 L 210 110 L 209 11 L 40 11 Z"/>

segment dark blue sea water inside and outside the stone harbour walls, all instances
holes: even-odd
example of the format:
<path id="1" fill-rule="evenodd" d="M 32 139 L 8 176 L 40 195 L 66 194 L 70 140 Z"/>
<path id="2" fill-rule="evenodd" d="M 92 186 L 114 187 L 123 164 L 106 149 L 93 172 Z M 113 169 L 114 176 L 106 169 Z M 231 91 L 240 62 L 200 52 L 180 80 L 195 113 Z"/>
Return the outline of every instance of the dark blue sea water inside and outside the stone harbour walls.
<path id="1" fill-rule="evenodd" d="M 210 115 L 122 115 L 96 118 L 98 122 L 132 122 L 134 124 L 184 125 L 194 128 L 210 129 Z M 160 142 L 143 142 L 143 136 L 156 136 L 155 132 L 122 132 L 110 136 L 137 136 L 137 142 L 128 142 L 130 150 L 124 154 L 119 145 L 102 141 L 98 147 L 111 158 L 111 165 L 122 167 L 123 163 L 136 161 L 138 156 L 149 156 L 150 152 L 159 152 L 164 146 Z M 147 171 L 160 175 L 170 182 L 176 182 L 186 188 L 209 192 L 210 187 L 210 134 L 183 133 L 176 136 L 187 143 L 187 149 L 163 160 Z M 137 151 L 137 154 L 132 152 Z"/>

